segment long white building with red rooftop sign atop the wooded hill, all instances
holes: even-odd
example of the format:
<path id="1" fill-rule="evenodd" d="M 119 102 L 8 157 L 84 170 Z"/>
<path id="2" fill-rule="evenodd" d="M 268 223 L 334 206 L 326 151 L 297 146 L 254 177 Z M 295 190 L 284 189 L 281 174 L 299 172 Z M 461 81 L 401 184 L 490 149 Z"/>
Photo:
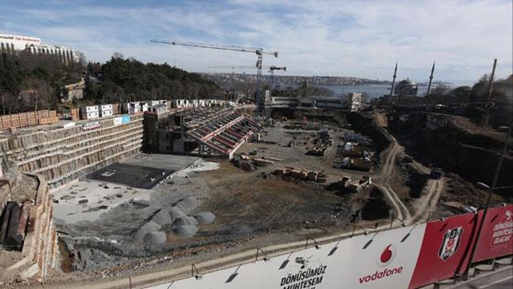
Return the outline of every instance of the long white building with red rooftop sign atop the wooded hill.
<path id="1" fill-rule="evenodd" d="M 79 58 L 73 49 L 56 45 L 42 44 L 40 38 L 0 34 L 0 52 L 14 54 L 19 51 L 30 51 L 33 54 L 57 55 L 64 62 L 78 62 Z"/>

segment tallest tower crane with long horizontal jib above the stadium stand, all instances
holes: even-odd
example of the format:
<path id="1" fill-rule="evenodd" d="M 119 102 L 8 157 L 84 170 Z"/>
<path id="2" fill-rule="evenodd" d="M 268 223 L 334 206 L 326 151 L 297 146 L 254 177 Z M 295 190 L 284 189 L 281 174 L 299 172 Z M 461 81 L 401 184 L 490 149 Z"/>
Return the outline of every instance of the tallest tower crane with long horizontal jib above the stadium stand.
<path id="1" fill-rule="evenodd" d="M 262 112 L 264 108 L 264 101 L 262 101 L 262 87 L 261 87 L 261 77 L 262 77 L 262 58 L 263 55 L 274 55 L 275 58 L 278 57 L 278 51 L 265 50 L 259 47 L 243 47 L 236 45 L 219 45 L 219 44 L 207 44 L 200 42 L 182 42 L 182 41 L 164 41 L 164 40 L 150 40 L 150 42 L 162 43 L 167 45 L 181 45 L 185 47 L 200 47 L 200 48 L 209 48 L 209 49 L 219 49 L 219 50 L 227 50 L 227 51 L 239 51 L 239 52 L 250 52 L 257 54 L 257 105 L 259 111 Z"/>

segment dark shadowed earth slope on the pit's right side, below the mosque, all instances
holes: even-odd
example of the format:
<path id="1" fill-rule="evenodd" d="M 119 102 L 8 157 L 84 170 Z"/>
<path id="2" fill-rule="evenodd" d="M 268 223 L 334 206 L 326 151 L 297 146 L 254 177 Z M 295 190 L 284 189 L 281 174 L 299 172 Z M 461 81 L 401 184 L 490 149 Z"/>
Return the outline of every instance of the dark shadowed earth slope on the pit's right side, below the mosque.
<path id="1" fill-rule="evenodd" d="M 456 173 L 467 181 L 491 183 L 504 133 L 486 131 L 460 116 L 428 112 L 391 114 L 389 125 L 408 153 L 416 158 Z M 512 185 L 512 138 L 508 147 L 497 186 Z M 501 190 L 501 193 L 508 193 L 508 190 Z"/>

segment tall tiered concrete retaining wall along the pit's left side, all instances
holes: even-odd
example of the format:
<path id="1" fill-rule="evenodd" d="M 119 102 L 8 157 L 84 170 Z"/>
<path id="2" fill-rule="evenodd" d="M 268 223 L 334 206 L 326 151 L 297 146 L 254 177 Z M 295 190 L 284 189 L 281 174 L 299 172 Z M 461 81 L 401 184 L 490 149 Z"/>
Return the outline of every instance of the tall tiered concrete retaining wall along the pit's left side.
<path id="1" fill-rule="evenodd" d="M 142 115 L 130 117 L 121 124 L 110 118 L 96 121 L 99 126 L 82 123 L 13 135 L 0 140 L 0 157 L 7 156 L 20 171 L 42 175 L 51 187 L 60 186 L 140 151 Z"/>

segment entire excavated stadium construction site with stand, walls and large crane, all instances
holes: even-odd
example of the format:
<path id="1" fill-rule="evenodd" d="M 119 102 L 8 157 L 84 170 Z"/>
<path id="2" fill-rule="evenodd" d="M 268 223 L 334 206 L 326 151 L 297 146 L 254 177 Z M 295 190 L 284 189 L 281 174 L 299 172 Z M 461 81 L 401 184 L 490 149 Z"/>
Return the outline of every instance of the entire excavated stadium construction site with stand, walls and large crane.
<path id="1" fill-rule="evenodd" d="M 155 42 L 256 53 L 259 77 L 262 55 L 278 56 Z M 246 261 L 237 254 L 254 248 L 282 253 L 303 240 L 317 247 L 350 231 L 477 214 L 486 189 L 476 183 L 490 181 L 501 147 L 497 184 L 509 185 L 512 140 L 417 101 L 415 87 L 401 81 L 398 95 L 393 86 L 364 105 L 354 93 L 265 97 L 258 78 L 254 104 L 152 100 L 85 106 L 80 120 L 77 110 L 72 120 L 3 117 L 0 285 L 121 288 L 139 276 L 142 287 L 183 277 L 166 271 L 191 263 Z"/>

